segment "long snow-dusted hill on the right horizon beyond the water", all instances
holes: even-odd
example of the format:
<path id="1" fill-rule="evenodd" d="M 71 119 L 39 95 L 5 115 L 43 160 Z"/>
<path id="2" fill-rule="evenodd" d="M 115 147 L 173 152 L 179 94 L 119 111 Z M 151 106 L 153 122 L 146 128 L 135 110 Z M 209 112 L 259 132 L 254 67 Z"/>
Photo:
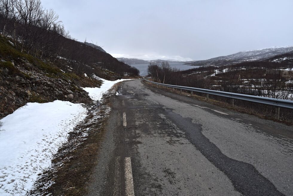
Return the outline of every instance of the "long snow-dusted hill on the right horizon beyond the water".
<path id="1" fill-rule="evenodd" d="M 185 62 L 185 64 L 193 66 L 222 66 L 247 61 L 259 61 L 269 59 L 276 55 L 281 55 L 291 51 L 293 52 L 293 46 L 276 46 L 271 48 L 237 52 L 232 55 L 219 56 L 207 60 L 188 61 Z"/>

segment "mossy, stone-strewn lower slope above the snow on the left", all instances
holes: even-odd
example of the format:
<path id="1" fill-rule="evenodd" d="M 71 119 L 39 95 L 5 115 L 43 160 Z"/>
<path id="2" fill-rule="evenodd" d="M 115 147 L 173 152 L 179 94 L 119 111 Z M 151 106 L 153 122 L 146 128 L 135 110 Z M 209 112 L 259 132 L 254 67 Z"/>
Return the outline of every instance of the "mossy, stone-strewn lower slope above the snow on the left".
<path id="1" fill-rule="evenodd" d="M 27 102 L 67 100 L 73 103 L 91 103 L 82 87 L 99 87 L 101 81 L 90 75 L 64 73 L 56 62 L 41 60 L 15 49 L 10 39 L 0 35 L 0 118 L 13 113 Z M 93 70 L 98 76 L 115 80 L 119 74 L 109 70 Z M 92 72 L 93 73 L 93 72 Z"/>

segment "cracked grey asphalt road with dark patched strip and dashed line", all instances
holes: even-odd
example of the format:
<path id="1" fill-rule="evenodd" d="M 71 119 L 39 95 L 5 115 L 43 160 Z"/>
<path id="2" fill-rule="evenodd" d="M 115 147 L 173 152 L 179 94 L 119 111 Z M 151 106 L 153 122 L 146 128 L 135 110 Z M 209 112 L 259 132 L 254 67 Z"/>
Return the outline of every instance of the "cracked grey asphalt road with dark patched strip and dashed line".
<path id="1" fill-rule="evenodd" d="M 293 195 L 293 128 L 122 82 L 89 195 Z"/>

